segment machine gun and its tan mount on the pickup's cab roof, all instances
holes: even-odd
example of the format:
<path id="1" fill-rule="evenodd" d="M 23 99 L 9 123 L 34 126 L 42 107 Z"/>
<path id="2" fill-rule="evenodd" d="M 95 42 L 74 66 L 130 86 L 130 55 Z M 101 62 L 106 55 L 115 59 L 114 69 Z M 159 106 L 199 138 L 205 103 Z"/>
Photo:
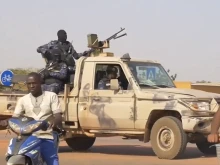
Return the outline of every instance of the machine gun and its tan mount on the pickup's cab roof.
<path id="1" fill-rule="evenodd" d="M 97 34 L 88 34 L 87 35 L 88 47 L 93 49 L 93 51 L 91 52 L 91 56 L 103 56 L 103 55 L 104 56 L 113 56 L 113 53 L 109 53 L 109 52 L 104 53 L 103 49 L 110 48 L 110 40 L 112 40 L 112 39 L 115 40 L 115 39 L 118 39 L 120 37 L 127 35 L 127 33 L 124 33 L 124 34 L 118 36 L 118 34 L 120 32 L 122 32 L 123 30 L 125 30 L 125 28 L 121 28 L 120 31 L 113 34 L 112 36 L 105 39 L 104 41 L 99 41 Z"/>

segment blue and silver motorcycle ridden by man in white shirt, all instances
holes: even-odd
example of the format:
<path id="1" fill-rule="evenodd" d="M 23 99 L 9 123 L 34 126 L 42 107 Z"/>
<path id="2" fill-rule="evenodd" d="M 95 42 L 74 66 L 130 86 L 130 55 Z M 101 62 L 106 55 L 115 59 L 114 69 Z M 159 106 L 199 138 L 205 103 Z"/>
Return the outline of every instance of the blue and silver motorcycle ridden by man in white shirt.
<path id="1" fill-rule="evenodd" d="M 36 131 L 48 128 L 46 121 L 36 121 L 31 117 L 10 118 L 9 129 L 17 134 L 12 138 L 6 154 L 7 165 L 46 165 L 40 152 L 41 139 L 33 136 Z M 53 132 L 54 141 L 59 149 L 59 138 L 65 131 L 56 128 Z"/>

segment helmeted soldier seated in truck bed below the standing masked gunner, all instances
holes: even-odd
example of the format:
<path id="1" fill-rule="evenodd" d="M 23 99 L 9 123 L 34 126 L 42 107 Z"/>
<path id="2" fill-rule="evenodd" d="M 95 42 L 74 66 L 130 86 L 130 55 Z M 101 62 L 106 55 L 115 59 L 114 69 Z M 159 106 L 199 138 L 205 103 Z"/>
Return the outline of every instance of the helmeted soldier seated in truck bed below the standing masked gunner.
<path id="1" fill-rule="evenodd" d="M 44 91 L 51 91 L 58 94 L 60 91 L 64 90 L 64 84 L 68 77 L 68 68 L 66 63 L 61 61 L 61 50 L 54 48 L 50 51 L 52 54 L 52 61 L 49 63 L 54 64 L 52 68 L 47 69 L 41 73 L 44 84 L 42 89 Z"/>

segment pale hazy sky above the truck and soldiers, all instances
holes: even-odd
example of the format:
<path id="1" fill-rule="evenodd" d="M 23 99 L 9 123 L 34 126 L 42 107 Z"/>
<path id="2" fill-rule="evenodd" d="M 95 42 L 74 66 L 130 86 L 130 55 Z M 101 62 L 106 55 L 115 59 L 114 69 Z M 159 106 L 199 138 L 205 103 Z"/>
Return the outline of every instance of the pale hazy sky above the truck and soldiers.
<path id="1" fill-rule="evenodd" d="M 111 42 L 116 56 L 157 60 L 179 81 L 220 82 L 220 1 L 218 0 L 0 0 L 0 70 L 43 67 L 38 46 L 65 29 L 78 52 L 87 34 Z M 108 51 L 110 51 L 108 50 Z"/>

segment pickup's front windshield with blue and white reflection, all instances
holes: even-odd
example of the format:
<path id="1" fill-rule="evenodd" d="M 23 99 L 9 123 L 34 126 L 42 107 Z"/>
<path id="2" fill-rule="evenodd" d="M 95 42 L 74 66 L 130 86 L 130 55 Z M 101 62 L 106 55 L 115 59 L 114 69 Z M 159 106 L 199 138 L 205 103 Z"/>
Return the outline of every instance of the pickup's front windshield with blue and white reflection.
<path id="1" fill-rule="evenodd" d="M 175 88 L 165 69 L 157 63 L 128 62 L 132 74 L 141 88 Z"/>

